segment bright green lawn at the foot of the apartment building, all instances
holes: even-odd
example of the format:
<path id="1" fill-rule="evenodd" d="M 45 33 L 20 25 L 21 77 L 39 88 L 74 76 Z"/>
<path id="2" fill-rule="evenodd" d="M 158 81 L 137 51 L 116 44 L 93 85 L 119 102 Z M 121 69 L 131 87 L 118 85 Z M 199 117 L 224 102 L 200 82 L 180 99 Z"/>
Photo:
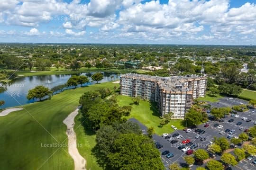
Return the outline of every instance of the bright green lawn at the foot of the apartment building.
<path id="1" fill-rule="evenodd" d="M 132 103 L 132 99 L 127 96 L 118 96 L 118 104 L 120 106 L 128 106 Z M 141 100 L 139 105 L 131 105 L 132 111 L 128 118 L 134 117 L 142 124 L 147 127 L 153 126 L 155 128 L 156 134 L 163 133 L 171 133 L 174 129 L 171 128 L 171 125 L 176 126 L 178 129 L 183 129 L 181 125 L 181 120 L 174 120 L 170 122 L 168 125 L 164 125 L 163 127 L 159 126 L 160 118 L 158 114 L 158 110 L 155 105 L 151 105 L 150 102 Z"/>

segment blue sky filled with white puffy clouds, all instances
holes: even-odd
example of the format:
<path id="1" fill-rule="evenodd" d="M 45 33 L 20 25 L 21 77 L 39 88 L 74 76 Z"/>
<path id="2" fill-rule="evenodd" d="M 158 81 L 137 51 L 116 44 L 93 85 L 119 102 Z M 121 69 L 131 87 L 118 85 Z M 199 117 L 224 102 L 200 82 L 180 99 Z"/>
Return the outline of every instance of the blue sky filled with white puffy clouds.
<path id="1" fill-rule="evenodd" d="M 0 42 L 256 45 L 255 0 L 1 0 Z"/>

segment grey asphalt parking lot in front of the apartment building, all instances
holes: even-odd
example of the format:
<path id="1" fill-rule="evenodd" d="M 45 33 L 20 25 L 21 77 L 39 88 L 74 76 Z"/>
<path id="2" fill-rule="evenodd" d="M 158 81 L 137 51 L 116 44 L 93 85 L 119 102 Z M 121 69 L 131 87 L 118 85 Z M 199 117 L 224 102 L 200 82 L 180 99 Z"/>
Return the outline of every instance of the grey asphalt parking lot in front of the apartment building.
<path id="1" fill-rule="evenodd" d="M 239 105 L 240 103 L 243 104 L 247 104 L 247 101 L 241 100 L 241 99 L 229 99 L 226 100 L 225 98 L 220 99 L 219 103 L 210 103 L 212 107 L 231 107 L 233 105 Z M 186 133 L 183 130 L 175 130 L 173 133 L 168 133 L 170 136 L 172 136 L 175 133 L 178 133 L 180 135 L 182 135 L 183 137 L 180 139 L 176 139 L 174 137 L 175 140 L 177 140 L 178 142 L 175 144 L 171 144 L 170 141 L 167 141 L 167 139 L 165 139 L 165 137 L 159 136 L 154 134 L 153 135 L 153 140 L 154 142 L 159 142 L 160 144 L 163 145 L 163 147 L 161 149 L 159 149 L 159 151 L 162 153 L 165 150 L 170 151 L 171 153 L 174 153 L 174 157 L 172 158 L 166 158 L 165 155 L 161 155 L 162 161 L 166 167 L 166 169 L 168 169 L 168 166 L 174 162 L 179 162 L 180 165 L 182 165 L 182 163 L 185 163 L 183 157 L 186 156 L 185 152 L 182 152 L 181 150 L 178 149 L 178 146 L 182 145 L 182 141 L 189 139 L 192 143 L 196 144 L 198 147 L 193 149 L 194 151 L 196 151 L 198 148 L 201 149 L 205 149 L 207 150 L 207 146 L 208 144 L 210 144 L 213 141 L 213 138 L 216 137 L 227 137 L 228 133 L 224 133 L 224 134 L 219 134 L 220 131 L 225 131 L 226 129 L 229 130 L 235 130 L 235 133 L 232 134 L 233 136 L 238 136 L 239 134 L 241 134 L 242 132 L 244 132 L 245 129 L 250 128 L 252 126 L 254 126 L 254 121 L 256 121 L 256 112 L 253 112 L 252 109 L 246 111 L 246 112 L 238 112 L 237 114 L 239 117 L 225 117 L 223 118 L 224 122 L 219 122 L 219 121 L 210 121 L 208 124 L 208 127 L 204 127 L 205 124 L 199 125 L 197 128 L 202 129 L 205 131 L 204 134 L 201 134 L 201 136 L 206 137 L 205 141 L 201 141 L 200 137 L 199 138 L 195 138 L 195 136 L 198 135 L 198 133 L 195 132 L 195 128 L 192 129 L 192 132 Z M 247 119 L 250 119 L 250 122 L 246 122 L 246 120 L 242 120 L 242 117 L 247 117 Z M 234 119 L 233 122 L 228 122 L 229 119 Z M 139 123 L 136 119 L 133 119 L 132 121 Z M 238 122 L 242 122 L 241 125 L 237 125 Z M 218 128 L 218 127 L 214 127 L 214 124 L 219 124 L 222 125 L 222 128 Z M 139 123 L 139 125 L 142 128 L 142 131 L 144 133 L 146 133 L 146 126 L 142 125 L 141 123 Z M 240 127 L 243 127 L 242 130 L 239 130 Z M 171 127 L 170 127 L 171 128 Z M 227 138 L 228 139 L 228 138 Z M 228 139 L 230 140 L 230 139 Z M 253 158 L 251 161 L 253 161 L 256 158 Z M 216 160 L 220 160 L 220 157 L 217 156 Z M 251 163 L 251 161 L 248 160 L 243 160 L 240 161 L 239 164 L 236 167 L 232 167 L 232 170 L 252 170 L 252 169 L 256 169 L 256 166 L 254 166 L 254 164 Z M 204 166 L 204 165 L 202 165 Z M 192 170 L 195 170 L 197 168 L 196 165 L 193 165 L 191 167 Z"/>

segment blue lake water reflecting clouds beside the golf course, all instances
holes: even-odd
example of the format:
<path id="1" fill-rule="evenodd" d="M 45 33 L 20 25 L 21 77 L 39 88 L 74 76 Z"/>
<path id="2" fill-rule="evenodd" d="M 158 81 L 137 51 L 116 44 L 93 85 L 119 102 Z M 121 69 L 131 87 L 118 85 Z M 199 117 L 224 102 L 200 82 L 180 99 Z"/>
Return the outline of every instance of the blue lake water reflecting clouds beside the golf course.
<path id="1" fill-rule="evenodd" d="M 99 82 L 108 82 L 108 81 L 118 81 L 119 74 L 110 73 L 110 72 L 102 72 L 104 74 L 104 79 Z M 90 83 L 84 85 L 95 84 L 94 81 L 91 80 L 91 75 L 94 72 L 90 73 L 82 73 L 76 75 L 86 75 Z M 6 107 L 15 107 L 26 105 L 28 103 L 33 103 L 35 100 L 27 100 L 27 92 L 29 89 L 33 89 L 38 85 L 43 85 L 48 87 L 49 89 L 64 84 L 67 80 L 72 76 L 72 74 L 62 74 L 62 75 L 46 75 L 46 76 L 29 76 L 29 77 L 20 77 L 10 82 L 9 85 L 6 85 L 6 91 L 0 93 L 0 100 L 4 100 L 5 104 L 0 108 Z"/>

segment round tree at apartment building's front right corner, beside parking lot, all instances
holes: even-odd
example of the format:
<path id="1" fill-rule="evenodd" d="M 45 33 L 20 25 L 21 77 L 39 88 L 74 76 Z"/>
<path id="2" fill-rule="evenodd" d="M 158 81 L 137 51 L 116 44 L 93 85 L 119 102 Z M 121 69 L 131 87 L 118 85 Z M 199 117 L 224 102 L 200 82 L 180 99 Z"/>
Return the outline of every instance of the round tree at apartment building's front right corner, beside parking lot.
<path id="1" fill-rule="evenodd" d="M 195 109 L 190 109 L 189 112 L 185 115 L 185 121 L 187 121 L 188 125 L 191 126 L 197 126 L 201 124 L 202 119 L 202 114 Z"/>

